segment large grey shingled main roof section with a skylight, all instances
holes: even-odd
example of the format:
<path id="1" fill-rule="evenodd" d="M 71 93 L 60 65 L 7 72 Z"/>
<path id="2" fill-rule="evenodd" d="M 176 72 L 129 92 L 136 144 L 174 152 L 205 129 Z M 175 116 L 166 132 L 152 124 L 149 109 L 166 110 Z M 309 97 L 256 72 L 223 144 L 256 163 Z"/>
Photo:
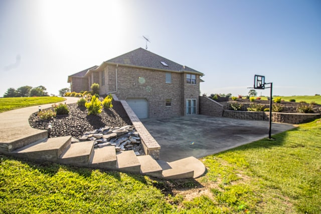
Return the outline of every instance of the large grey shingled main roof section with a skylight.
<path id="1" fill-rule="evenodd" d="M 127 66 L 138 66 L 138 67 L 144 67 L 149 69 L 150 68 L 161 69 L 161 70 L 176 71 L 176 72 L 193 72 L 193 73 L 199 73 L 200 75 L 203 75 L 203 73 L 199 71 L 196 71 L 187 66 L 180 65 L 176 62 L 173 62 L 164 57 L 151 53 L 150 51 L 147 51 L 142 48 L 138 48 L 126 54 L 120 55 L 119 57 L 115 57 L 113 59 L 105 61 L 105 63 L 121 64 L 121 65 L 127 65 Z"/>

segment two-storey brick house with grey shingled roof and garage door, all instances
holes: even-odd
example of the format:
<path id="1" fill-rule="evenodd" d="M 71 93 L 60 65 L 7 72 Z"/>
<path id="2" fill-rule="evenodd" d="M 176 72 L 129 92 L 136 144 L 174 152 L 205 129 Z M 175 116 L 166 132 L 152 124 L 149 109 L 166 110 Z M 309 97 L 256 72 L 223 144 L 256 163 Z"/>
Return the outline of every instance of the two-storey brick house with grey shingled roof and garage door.
<path id="1" fill-rule="evenodd" d="M 139 118 L 199 113 L 200 77 L 204 74 L 138 48 L 68 77 L 71 91 L 100 85 L 100 94 L 126 100 Z"/>

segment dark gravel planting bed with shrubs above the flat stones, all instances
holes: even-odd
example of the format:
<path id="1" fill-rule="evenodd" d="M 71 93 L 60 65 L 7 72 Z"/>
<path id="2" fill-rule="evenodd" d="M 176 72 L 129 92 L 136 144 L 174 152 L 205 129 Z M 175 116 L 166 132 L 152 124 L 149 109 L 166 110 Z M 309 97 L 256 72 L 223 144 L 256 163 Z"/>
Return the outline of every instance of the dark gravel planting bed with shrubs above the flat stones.
<path id="1" fill-rule="evenodd" d="M 85 107 L 78 107 L 77 104 L 69 104 L 68 115 L 57 115 L 52 119 L 41 120 L 37 112 L 29 118 L 31 127 L 47 130 L 49 122 L 52 123 L 50 137 L 71 135 L 74 138 L 81 137 L 85 132 L 93 131 L 105 126 L 122 127 L 132 125 L 120 102 L 113 102 L 113 108 L 102 110 L 99 115 L 88 115 Z"/>

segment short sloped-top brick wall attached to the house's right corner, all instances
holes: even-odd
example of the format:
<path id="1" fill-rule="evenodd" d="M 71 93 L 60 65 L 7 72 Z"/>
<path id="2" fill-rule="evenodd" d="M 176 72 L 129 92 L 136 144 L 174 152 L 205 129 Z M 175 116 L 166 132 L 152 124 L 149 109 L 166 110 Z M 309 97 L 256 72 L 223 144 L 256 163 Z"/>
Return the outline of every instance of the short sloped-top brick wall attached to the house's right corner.
<path id="1" fill-rule="evenodd" d="M 199 98 L 199 114 L 222 117 L 224 107 L 220 103 L 212 100 L 206 96 L 200 96 Z"/>

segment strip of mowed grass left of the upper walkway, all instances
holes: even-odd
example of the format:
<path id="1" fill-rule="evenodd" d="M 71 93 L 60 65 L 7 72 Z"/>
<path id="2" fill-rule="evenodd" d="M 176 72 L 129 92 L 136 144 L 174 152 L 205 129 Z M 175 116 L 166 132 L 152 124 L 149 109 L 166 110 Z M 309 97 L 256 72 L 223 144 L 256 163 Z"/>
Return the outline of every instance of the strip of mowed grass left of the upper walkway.
<path id="1" fill-rule="evenodd" d="M 28 106 L 62 102 L 62 97 L 12 97 L 0 98 L 0 112 L 10 111 Z"/>

